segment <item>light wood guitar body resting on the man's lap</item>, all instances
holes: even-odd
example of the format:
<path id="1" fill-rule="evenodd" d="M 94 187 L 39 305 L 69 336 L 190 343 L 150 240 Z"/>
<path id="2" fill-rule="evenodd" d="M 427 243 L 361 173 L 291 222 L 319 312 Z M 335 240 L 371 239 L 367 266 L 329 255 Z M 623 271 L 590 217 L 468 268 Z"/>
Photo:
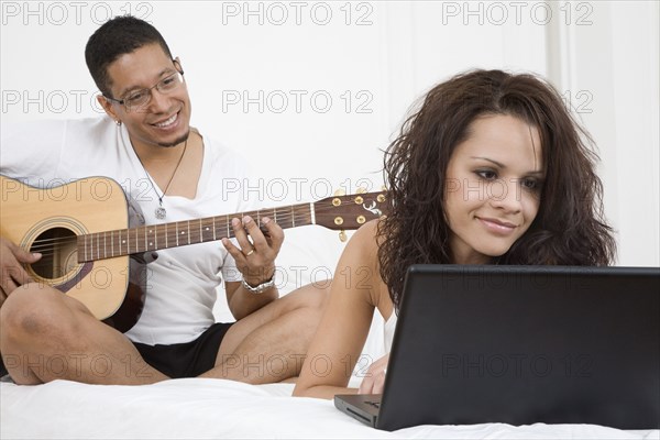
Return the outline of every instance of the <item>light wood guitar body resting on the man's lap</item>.
<path id="1" fill-rule="evenodd" d="M 138 321 L 143 298 L 138 285 L 129 285 L 130 256 L 79 262 L 77 248 L 78 235 L 128 227 L 122 188 L 103 177 L 44 189 L 4 176 L 0 183 L 0 235 L 42 253 L 38 262 L 25 267 L 34 280 L 78 299 L 118 330 L 129 330 Z M 133 309 L 133 317 L 116 316 L 127 293 L 133 297 L 125 305 Z"/>

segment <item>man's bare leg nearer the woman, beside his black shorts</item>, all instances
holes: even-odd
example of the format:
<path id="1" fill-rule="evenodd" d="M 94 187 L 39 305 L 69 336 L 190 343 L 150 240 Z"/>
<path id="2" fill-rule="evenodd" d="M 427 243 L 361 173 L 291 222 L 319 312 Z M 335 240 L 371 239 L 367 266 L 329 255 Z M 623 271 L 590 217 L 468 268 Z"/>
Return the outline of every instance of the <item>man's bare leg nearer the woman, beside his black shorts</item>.
<path id="1" fill-rule="evenodd" d="M 328 290 L 329 282 L 304 286 L 234 323 L 220 344 L 216 367 L 200 377 L 265 384 L 297 376 Z"/>

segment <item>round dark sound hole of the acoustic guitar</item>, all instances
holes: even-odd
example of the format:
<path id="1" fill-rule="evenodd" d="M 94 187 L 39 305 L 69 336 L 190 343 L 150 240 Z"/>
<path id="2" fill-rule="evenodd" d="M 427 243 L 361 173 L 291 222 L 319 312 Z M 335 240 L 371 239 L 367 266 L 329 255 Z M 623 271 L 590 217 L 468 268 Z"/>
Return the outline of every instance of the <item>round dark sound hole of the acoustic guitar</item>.
<path id="1" fill-rule="evenodd" d="M 32 270 L 45 279 L 61 278 L 78 265 L 76 234 L 66 228 L 53 228 L 42 232 L 32 243 L 30 251 L 42 254 L 41 260 L 32 264 Z"/>

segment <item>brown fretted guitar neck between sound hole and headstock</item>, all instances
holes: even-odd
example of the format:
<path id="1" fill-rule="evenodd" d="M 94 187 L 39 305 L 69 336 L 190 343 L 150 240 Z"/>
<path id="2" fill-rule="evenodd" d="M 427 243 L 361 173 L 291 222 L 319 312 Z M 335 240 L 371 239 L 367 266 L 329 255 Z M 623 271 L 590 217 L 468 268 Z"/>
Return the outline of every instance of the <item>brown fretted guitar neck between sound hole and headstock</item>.
<path id="1" fill-rule="evenodd" d="M 243 216 L 252 217 L 260 227 L 261 219 L 264 217 L 270 217 L 283 229 L 316 224 L 315 204 L 310 202 L 204 219 L 95 232 L 78 235 L 78 262 L 205 243 L 222 238 L 231 239 L 234 237 L 231 219 L 242 218 Z"/>

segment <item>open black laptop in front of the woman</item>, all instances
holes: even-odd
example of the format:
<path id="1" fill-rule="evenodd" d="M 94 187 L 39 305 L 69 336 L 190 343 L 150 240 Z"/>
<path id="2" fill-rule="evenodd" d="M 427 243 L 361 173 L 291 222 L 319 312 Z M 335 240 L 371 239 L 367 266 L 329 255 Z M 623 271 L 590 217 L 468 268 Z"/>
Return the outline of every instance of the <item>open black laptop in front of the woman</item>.
<path id="1" fill-rule="evenodd" d="M 660 267 L 414 265 L 382 395 L 334 405 L 377 429 L 660 428 Z"/>

